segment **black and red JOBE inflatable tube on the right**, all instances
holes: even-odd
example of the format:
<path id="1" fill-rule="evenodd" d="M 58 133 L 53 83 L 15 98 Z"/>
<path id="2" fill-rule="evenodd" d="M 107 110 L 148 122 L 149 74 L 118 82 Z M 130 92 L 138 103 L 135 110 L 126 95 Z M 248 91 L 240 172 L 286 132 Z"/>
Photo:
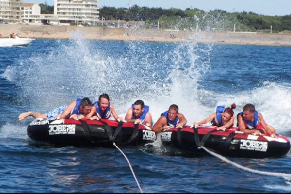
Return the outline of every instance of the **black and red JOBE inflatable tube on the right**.
<path id="1" fill-rule="evenodd" d="M 162 132 L 161 141 L 168 151 L 178 150 L 185 155 L 206 154 L 202 146 L 223 156 L 238 158 L 282 157 L 290 150 L 285 136 L 244 134 L 237 127 L 225 131 L 215 126 L 168 128 Z"/>

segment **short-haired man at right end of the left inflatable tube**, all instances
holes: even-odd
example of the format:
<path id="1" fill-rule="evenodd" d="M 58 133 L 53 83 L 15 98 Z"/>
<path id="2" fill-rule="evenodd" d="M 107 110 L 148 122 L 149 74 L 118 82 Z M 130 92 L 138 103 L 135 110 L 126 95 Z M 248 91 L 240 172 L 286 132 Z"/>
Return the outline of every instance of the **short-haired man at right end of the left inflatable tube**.
<path id="1" fill-rule="evenodd" d="M 144 124 L 152 127 L 152 116 L 149 113 L 149 106 L 143 100 L 136 100 L 128 109 L 125 120 L 130 123 Z"/>

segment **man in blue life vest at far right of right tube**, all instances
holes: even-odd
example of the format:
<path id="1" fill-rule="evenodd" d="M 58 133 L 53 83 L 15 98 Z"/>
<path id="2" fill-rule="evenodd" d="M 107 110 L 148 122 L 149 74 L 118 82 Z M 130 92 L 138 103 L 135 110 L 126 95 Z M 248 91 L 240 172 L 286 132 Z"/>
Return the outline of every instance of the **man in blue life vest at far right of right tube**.
<path id="1" fill-rule="evenodd" d="M 261 135 L 267 133 L 276 137 L 275 128 L 267 125 L 261 113 L 255 110 L 253 104 L 246 104 L 237 115 L 239 130 L 246 134 Z"/>

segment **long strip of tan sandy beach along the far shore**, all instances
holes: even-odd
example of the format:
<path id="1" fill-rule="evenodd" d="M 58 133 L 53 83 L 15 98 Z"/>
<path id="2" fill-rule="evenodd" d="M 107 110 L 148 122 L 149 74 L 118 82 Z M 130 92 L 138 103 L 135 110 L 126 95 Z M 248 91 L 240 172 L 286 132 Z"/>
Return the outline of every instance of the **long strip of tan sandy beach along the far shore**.
<path id="1" fill-rule="evenodd" d="M 70 39 L 81 36 L 94 40 L 185 42 L 213 44 L 246 44 L 291 46 L 290 34 L 251 32 L 195 32 L 167 29 L 129 29 L 108 27 L 77 27 L 50 25 L 0 24 L 0 34 L 4 37 L 14 32 L 22 38 Z"/>

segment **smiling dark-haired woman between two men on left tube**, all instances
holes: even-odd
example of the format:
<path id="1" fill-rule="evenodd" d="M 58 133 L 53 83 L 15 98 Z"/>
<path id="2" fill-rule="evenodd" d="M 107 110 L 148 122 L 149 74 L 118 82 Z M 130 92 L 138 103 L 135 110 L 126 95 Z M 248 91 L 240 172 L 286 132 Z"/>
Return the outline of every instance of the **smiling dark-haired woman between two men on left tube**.
<path id="1" fill-rule="evenodd" d="M 90 113 L 86 116 L 87 119 L 109 119 L 111 114 L 113 115 L 114 119 L 117 121 L 122 121 L 123 118 L 119 117 L 115 112 L 114 106 L 110 104 L 109 95 L 103 93 L 99 96 L 97 102 L 93 103 Z"/>

